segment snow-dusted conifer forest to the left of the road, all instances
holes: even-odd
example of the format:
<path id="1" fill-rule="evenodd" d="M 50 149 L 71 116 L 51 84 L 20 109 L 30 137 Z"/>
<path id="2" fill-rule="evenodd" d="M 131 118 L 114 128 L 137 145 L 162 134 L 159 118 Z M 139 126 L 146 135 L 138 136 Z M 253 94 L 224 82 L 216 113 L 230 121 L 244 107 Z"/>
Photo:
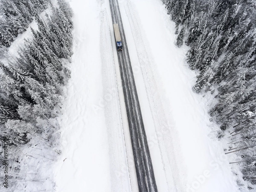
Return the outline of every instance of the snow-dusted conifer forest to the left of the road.
<path id="1" fill-rule="evenodd" d="M 65 0 L 55 5 L 50 0 L 0 3 L 0 58 L 5 58 L 0 60 L 0 140 L 8 143 L 8 153 L 0 143 L 0 166 L 8 163 L 8 188 L 19 189 L 17 185 L 29 174 L 35 182 L 47 180 L 29 160 L 51 162 L 60 153 L 55 147 L 60 134 L 56 117 L 61 113 L 63 87 L 70 78 L 73 13 Z M 29 26 L 32 22 L 37 28 Z M 17 54 L 8 54 L 18 34 L 27 30 L 31 35 Z M 1 171 L 0 176 L 5 174 Z M 6 187 L 3 181 L 1 186 Z"/>

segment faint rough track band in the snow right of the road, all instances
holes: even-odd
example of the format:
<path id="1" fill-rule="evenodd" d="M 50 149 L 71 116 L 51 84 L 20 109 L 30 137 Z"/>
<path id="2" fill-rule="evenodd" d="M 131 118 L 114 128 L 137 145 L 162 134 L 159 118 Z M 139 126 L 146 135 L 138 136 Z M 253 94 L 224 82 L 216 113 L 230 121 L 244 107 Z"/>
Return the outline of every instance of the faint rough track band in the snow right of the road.
<path id="1" fill-rule="evenodd" d="M 141 71 L 143 76 L 143 84 L 145 86 L 145 90 L 147 93 L 147 99 L 149 101 L 150 112 L 152 115 L 152 119 L 154 122 L 154 130 L 156 132 L 156 136 L 154 140 L 149 140 L 149 149 L 153 147 L 152 145 L 158 145 L 161 157 L 161 163 L 163 164 L 164 175 L 161 176 L 161 182 L 166 182 L 168 188 L 162 189 L 159 187 L 159 191 L 169 191 L 169 192 L 177 192 L 179 191 L 176 188 L 175 180 L 177 179 L 174 177 L 178 174 L 175 170 L 177 167 L 175 157 L 173 156 L 173 148 L 172 146 L 172 137 L 171 132 L 169 130 L 174 123 L 173 119 L 171 119 L 171 115 L 169 115 L 169 119 L 166 116 L 166 110 L 163 107 L 164 105 L 168 105 L 167 102 L 164 100 L 162 95 L 160 95 L 159 87 L 161 84 L 157 84 L 156 79 L 160 79 L 157 71 L 156 71 L 156 64 L 154 58 L 152 57 L 151 49 L 149 48 L 149 43 L 145 38 L 146 34 L 140 26 L 143 25 L 140 21 L 140 16 L 137 15 L 136 7 L 133 5 L 131 0 L 127 0 L 125 3 L 125 13 L 127 15 L 129 25 L 131 27 L 132 37 L 136 42 L 136 52 L 138 57 L 138 64 L 137 68 Z M 122 10 L 122 9 L 121 9 Z M 164 101 L 164 102 L 161 102 Z M 170 107 L 168 108 L 170 110 Z M 148 135 L 150 137 L 150 135 Z M 152 151 L 151 151 L 152 152 Z M 154 166 L 154 159 L 152 159 L 152 163 Z M 171 166 L 172 165 L 172 166 Z M 175 175 L 174 175 L 175 172 Z M 158 183 L 159 180 L 156 175 L 156 182 Z M 165 180 L 165 181 L 164 181 Z M 161 187 L 163 187 L 163 183 L 161 183 Z M 158 183 L 159 185 L 159 183 Z"/>

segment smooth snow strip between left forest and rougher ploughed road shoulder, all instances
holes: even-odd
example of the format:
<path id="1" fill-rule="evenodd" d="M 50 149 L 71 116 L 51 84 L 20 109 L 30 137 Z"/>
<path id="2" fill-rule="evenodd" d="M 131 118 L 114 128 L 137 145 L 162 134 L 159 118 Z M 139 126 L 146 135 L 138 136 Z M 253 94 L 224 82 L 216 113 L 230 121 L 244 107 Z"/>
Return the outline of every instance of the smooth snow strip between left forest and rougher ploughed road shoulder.
<path id="1" fill-rule="evenodd" d="M 108 191 L 105 116 L 104 111 L 96 116 L 92 110 L 92 104 L 102 95 L 98 5 L 88 0 L 73 1 L 70 5 L 74 11 L 74 55 L 61 117 L 63 148 L 62 162 L 58 162 L 56 169 L 57 191 Z"/>

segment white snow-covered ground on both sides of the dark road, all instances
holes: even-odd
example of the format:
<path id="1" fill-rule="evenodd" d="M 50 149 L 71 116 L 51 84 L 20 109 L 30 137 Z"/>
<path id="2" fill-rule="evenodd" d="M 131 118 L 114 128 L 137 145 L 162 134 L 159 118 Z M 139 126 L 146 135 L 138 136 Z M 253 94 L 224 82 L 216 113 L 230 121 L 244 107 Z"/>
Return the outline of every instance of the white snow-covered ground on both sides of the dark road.
<path id="1" fill-rule="evenodd" d="M 61 116 L 58 192 L 138 191 L 108 0 L 70 0 L 71 79 Z M 160 0 L 119 0 L 159 192 L 238 192 L 225 141 Z M 243 189 L 246 191 L 246 189 Z"/>

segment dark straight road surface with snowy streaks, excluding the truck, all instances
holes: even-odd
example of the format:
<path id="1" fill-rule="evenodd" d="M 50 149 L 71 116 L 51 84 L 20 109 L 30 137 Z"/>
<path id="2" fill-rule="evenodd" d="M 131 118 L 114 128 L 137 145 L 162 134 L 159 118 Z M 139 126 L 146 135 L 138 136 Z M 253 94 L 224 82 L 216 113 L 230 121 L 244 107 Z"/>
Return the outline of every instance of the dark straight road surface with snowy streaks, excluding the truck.
<path id="1" fill-rule="evenodd" d="M 140 103 L 137 95 L 131 61 L 117 0 L 109 0 L 113 23 L 118 23 L 123 51 L 117 53 L 122 79 L 125 106 L 134 154 L 134 163 L 140 192 L 157 192 L 154 170 L 148 148 Z"/>

